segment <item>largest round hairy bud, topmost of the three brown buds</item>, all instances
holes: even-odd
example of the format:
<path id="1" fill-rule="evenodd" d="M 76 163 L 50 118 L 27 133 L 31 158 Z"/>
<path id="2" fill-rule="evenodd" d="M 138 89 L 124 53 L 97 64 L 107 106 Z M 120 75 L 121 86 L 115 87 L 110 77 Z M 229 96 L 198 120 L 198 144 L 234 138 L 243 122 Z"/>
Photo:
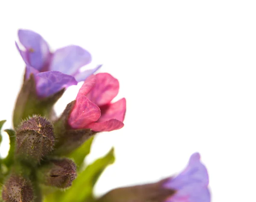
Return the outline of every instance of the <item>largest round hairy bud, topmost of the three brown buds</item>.
<path id="1" fill-rule="evenodd" d="M 52 124 L 45 118 L 35 116 L 20 124 L 16 130 L 16 157 L 37 164 L 54 146 Z"/>

